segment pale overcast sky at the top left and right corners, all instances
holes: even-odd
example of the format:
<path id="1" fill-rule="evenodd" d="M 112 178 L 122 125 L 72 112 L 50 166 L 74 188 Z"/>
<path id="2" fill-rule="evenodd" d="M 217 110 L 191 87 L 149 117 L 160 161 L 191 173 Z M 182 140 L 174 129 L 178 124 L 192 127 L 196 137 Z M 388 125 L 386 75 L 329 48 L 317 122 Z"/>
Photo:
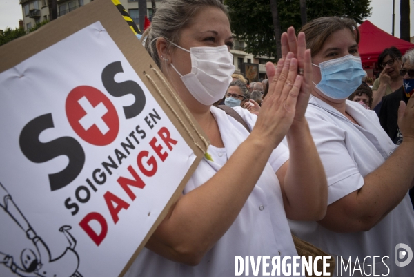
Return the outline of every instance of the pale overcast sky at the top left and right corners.
<path id="1" fill-rule="evenodd" d="M 391 34 L 393 0 L 371 0 L 373 8 L 369 21 L 378 28 Z M 414 36 L 414 0 L 410 0 L 410 37 Z M 0 30 L 6 27 L 19 27 L 19 19 L 23 19 L 19 0 L 0 0 Z M 395 37 L 400 37 L 400 1 L 395 1 Z"/>

